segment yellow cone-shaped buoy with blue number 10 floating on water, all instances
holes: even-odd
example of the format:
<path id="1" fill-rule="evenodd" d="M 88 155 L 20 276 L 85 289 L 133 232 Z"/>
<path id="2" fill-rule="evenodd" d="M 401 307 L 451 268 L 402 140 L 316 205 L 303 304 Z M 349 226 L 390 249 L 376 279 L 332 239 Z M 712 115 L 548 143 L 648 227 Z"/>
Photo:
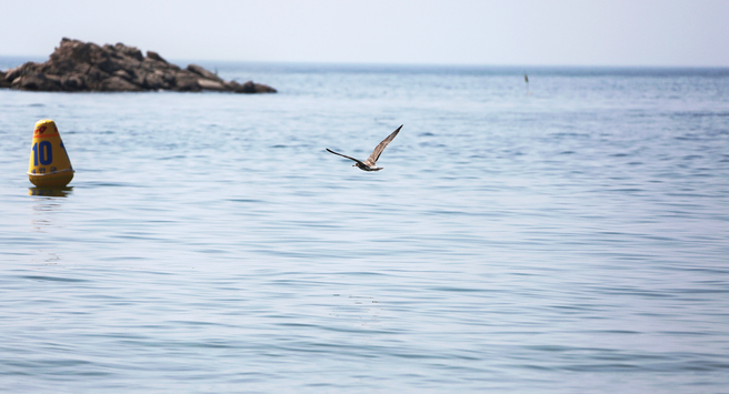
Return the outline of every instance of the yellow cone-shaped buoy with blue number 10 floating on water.
<path id="1" fill-rule="evenodd" d="M 52 120 L 36 122 L 28 178 L 40 188 L 63 188 L 73 179 L 71 161 Z"/>

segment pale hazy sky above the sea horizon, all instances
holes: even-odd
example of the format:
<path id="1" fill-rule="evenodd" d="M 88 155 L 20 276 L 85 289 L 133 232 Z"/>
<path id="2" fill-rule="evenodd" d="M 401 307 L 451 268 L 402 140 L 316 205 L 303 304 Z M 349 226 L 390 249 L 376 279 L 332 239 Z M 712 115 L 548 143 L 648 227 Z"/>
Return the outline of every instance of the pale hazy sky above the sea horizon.
<path id="1" fill-rule="evenodd" d="M 68 37 L 168 60 L 729 67 L 729 0 L 0 0 L 0 55 Z"/>

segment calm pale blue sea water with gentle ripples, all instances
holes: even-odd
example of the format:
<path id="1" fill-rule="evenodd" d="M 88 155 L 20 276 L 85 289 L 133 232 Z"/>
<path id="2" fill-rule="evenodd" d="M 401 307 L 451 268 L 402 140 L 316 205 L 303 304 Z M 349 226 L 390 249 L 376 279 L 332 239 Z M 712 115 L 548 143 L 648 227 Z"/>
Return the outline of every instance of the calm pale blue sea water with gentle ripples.
<path id="1" fill-rule="evenodd" d="M 204 65 L 0 90 L 0 391 L 728 391 L 729 70 Z"/>

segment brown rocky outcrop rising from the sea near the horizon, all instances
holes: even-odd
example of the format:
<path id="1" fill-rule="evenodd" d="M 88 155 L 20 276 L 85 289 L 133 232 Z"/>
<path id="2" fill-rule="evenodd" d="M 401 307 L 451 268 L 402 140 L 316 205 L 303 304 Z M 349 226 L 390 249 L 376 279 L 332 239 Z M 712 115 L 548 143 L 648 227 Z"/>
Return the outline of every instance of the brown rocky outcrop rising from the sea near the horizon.
<path id="1" fill-rule="evenodd" d="M 122 43 L 99 47 L 91 42 L 62 39 L 44 63 L 27 62 L 0 71 L 0 88 L 36 91 L 180 92 L 222 91 L 276 93 L 276 89 L 248 81 L 224 81 L 200 65 L 187 69 L 167 62 L 159 53 L 147 55 Z"/>

